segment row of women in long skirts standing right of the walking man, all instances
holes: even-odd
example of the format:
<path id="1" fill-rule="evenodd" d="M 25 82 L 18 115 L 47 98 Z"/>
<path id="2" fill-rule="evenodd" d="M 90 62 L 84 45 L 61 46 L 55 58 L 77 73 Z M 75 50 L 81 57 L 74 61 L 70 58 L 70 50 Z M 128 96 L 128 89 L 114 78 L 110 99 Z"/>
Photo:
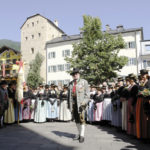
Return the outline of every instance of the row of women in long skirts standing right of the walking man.
<path id="1" fill-rule="evenodd" d="M 89 122 L 105 122 L 138 139 L 150 139 L 150 80 L 147 70 L 117 83 L 93 86 L 87 110 Z"/>

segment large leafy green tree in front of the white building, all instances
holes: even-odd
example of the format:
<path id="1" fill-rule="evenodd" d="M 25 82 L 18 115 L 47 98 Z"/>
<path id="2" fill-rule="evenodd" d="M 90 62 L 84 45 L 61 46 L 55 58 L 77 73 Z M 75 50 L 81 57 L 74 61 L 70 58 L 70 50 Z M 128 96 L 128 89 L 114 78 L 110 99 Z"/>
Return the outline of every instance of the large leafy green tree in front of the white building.
<path id="1" fill-rule="evenodd" d="M 118 56 L 119 50 L 125 47 L 121 35 L 113 36 L 102 32 L 99 18 L 83 16 L 84 25 L 80 29 L 82 39 L 73 45 L 72 57 L 66 58 L 71 67 L 82 70 L 82 77 L 91 84 L 99 84 L 117 76 L 127 58 Z"/>

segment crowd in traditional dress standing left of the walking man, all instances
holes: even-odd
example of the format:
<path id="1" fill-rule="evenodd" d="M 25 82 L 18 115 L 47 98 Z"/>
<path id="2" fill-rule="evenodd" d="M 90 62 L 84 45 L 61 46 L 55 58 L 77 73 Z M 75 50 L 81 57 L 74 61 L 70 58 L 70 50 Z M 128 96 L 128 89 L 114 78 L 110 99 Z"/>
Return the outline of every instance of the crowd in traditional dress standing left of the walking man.
<path id="1" fill-rule="evenodd" d="M 38 88 L 24 86 L 21 103 L 16 100 L 16 82 L 7 85 L 6 81 L 0 84 L 0 120 L 1 127 L 21 121 L 70 121 L 71 113 L 67 107 L 68 87 L 62 89 L 54 84 L 40 85 Z"/>

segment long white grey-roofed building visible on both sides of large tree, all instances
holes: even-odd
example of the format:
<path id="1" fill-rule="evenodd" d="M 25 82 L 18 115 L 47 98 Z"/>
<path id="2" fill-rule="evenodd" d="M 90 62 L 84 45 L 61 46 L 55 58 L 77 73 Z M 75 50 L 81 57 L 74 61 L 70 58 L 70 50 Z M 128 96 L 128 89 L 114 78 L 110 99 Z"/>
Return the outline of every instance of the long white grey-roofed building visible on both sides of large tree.
<path id="1" fill-rule="evenodd" d="M 137 75 L 141 68 L 141 40 L 143 40 L 143 28 L 124 29 L 123 26 L 117 26 L 116 30 L 111 30 L 107 25 L 106 31 L 114 36 L 121 35 L 126 43 L 126 48 L 121 49 L 119 56 L 126 56 L 128 63 L 118 75 L 127 76 L 130 73 Z M 72 44 L 79 42 L 81 35 L 63 36 L 47 42 L 47 83 L 65 84 L 72 80 L 72 77 L 66 72 L 66 61 L 64 53 L 70 56 L 73 51 Z M 68 52 L 67 52 L 68 51 Z M 51 56 L 52 55 L 52 56 Z M 53 57 L 53 58 L 51 58 Z"/>

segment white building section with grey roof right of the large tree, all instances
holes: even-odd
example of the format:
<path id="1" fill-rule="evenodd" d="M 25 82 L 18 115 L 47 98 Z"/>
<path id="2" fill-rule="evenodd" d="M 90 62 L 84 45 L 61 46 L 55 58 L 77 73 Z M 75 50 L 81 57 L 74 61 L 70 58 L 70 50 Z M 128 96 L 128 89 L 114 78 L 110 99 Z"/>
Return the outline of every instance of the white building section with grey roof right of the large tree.
<path id="1" fill-rule="evenodd" d="M 130 73 L 137 75 L 141 70 L 141 40 L 143 40 L 143 28 L 124 29 L 122 25 L 117 26 L 116 30 L 109 30 L 112 35 L 121 35 L 126 47 L 121 49 L 119 56 L 126 56 L 128 63 L 118 72 L 120 76 L 127 76 Z"/>

